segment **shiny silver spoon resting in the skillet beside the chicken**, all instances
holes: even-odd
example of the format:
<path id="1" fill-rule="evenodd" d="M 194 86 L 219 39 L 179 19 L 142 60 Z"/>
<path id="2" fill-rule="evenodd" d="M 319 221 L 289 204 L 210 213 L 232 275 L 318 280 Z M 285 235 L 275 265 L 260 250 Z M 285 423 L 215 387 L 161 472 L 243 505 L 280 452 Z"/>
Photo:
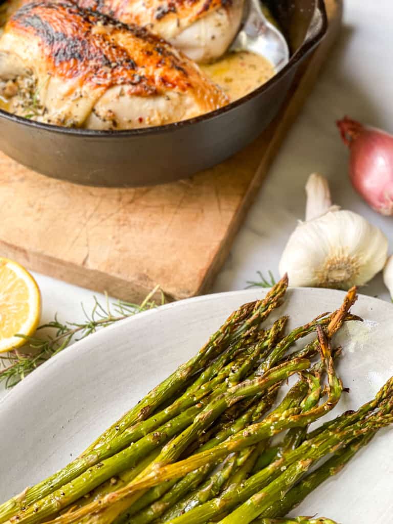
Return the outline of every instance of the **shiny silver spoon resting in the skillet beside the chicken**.
<path id="1" fill-rule="evenodd" d="M 248 12 L 229 51 L 251 51 L 267 58 L 278 73 L 289 62 L 289 48 L 282 33 L 266 18 L 260 0 L 248 0 Z"/>

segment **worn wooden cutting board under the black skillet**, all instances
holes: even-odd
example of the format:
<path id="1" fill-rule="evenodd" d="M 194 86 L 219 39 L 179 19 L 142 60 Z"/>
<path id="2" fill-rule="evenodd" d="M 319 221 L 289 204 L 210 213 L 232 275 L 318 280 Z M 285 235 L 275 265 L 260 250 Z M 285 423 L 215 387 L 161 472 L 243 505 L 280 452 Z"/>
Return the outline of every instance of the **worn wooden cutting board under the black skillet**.
<path id="1" fill-rule="evenodd" d="M 0 254 L 40 273 L 126 300 L 157 284 L 168 299 L 208 290 L 290 125 L 339 34 L 329 33 L 294 81 L 280 114 L 252 145 L 192 179 L 157 187 L 73 185 L 0 153 Z"/>

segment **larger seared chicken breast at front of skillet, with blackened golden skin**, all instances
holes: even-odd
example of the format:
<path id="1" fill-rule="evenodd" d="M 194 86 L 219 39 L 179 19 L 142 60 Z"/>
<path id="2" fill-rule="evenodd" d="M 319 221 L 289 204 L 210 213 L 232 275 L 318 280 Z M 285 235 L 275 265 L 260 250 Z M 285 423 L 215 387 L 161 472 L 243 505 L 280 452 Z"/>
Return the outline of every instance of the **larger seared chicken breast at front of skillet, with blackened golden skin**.
<path id="1" fill-rule="evenodd" d="M 0 38 L 10 111 L 92 129 L 169 124 L 228 103 L 169 43 L 69 1 L 32 2 Z"/>

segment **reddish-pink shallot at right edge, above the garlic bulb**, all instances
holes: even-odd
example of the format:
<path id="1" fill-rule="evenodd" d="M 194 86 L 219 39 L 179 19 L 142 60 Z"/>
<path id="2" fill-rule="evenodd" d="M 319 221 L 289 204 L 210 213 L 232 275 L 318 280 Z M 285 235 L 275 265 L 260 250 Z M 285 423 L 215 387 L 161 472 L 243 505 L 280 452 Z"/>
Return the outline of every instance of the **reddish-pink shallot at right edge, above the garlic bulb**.
<path id="1" fill-rule="evenodd" d="M 393 215 L 393 136 L 348 117 L 337 126 L 350 148 L 353 187 L 375 211 Z"/>

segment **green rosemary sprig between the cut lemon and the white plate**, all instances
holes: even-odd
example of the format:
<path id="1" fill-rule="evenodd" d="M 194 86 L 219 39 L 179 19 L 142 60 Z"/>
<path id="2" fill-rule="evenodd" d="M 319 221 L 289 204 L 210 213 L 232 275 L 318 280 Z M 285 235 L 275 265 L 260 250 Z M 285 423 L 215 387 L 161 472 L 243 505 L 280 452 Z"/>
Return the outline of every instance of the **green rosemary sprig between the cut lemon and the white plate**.
<path id="1" fill-rule="evenodd" d="M 157 292 L 161 293 L 159 303 L 152 300 Z M 104 328 L 119 320 L 124 320 L 141 311 L 155 308 L 157 305 L 162 305 L 163 303 L 165 303 L 165 297 L 160 287 L 156 286 L 140 304 L 118 300 L 111 305 L 108 297 L 106 297 L 104 307 L 97 298 L 94 297 L 94 307 L 90 314 L 86 312 L 83 304 L 81 304 L 86 318 L 85 322 L 62 323 L 58 320 L 57 315 L 55 315 L 54 320 L 42 324 L 37 328 L 37 331 L 46 330 L 45 335 L 16 335 L 23 337 L 26 340 L 26 344 L 21 346 L 21 348 L 15 349 L 12 353 L 8 353 L 7 356 L 0 355 L 0 365 L 2 365 L 2 367 L 0 367 L 0 383 L 5 382 L 6 388 L 12 388 L 38 366 L 62 351 L 72 342 L 84 339 L 100 328 Z M 49 333 L 47 331 L 49 331 Z"/>

